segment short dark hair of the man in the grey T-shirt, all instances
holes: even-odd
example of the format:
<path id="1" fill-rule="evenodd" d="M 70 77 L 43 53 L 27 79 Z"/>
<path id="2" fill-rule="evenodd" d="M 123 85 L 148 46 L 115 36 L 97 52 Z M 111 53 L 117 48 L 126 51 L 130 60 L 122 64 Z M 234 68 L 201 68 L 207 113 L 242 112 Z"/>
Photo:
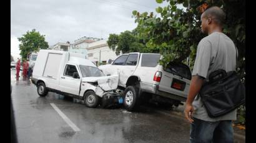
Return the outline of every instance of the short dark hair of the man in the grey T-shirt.
<path id="1" fill-rule="evenodd" d="M 222 26 L 225 22 L 226 14 L 220 7 L 212 6 L 204 11 L 205 17 L 212 17 L 212 20 Z"/>

